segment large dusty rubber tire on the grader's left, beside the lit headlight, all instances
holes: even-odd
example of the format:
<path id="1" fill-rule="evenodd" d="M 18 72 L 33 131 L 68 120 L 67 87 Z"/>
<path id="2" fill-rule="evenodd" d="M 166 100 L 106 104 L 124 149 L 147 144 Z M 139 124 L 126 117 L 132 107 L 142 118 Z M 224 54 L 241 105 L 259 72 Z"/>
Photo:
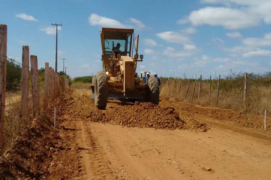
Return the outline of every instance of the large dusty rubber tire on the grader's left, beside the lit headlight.
<path id="1" fill-rule="evenodd" d="M 101 71 L 96 74 L 94 88 L 94 102 L 100 110 L 104 110 L 107 104 L 108 84 L 105 72 Z"/>

